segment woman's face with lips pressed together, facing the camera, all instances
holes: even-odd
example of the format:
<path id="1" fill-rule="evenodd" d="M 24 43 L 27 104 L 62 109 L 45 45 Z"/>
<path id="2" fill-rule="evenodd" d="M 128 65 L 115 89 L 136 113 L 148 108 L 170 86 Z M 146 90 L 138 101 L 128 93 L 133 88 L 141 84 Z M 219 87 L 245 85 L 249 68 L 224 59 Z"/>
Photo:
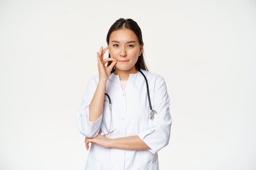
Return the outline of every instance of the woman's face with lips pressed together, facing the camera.
<path id="1" fill-rule="evenodd" d="M 113 31 L 109 38 L 108 52 L 117 60 L 115 74 L 121 72 L 137 73 L 135 64 L 141 55 L 143 44 L 139 44 L 136 34 L 130 29 Z"/>

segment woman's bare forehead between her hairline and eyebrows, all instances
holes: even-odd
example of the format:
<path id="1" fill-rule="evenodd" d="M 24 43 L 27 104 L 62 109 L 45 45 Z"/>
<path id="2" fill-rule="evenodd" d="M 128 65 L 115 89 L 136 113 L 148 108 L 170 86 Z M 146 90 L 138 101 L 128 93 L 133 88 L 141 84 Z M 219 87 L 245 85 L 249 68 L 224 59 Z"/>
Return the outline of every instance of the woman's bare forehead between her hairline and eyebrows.
<path id="1" fill-rule="evenodd" d="M 130 30 L 130 29 L 118 29 L 113 31 L 110 34 L 110 38 L 109 38 L 110 42 L 112 40 L 116 40 L 116 41 L 131 41 L 134 40 L 136 42 L 139 42 L 136 34 Z"/>

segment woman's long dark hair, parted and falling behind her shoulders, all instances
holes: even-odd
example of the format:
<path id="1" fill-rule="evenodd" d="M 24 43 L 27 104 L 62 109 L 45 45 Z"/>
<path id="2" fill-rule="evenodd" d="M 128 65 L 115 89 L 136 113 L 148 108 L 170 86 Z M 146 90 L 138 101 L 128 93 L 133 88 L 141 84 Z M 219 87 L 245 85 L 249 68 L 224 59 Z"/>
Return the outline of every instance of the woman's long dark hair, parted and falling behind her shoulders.
<path id="1" fill-rule="evenodd" d="M 113 31 L 116 31 L 118 29 L 130 29 L 132 30 L 135 35 L 137 36 L 138 40 L 139 40 L 139 44 L 142 45 L 143 44 L 143 40 L 142 40 L 142 33 L 141 33 L 141 29 L 139 28 L 139 25 L 137 24 L 137 22 L 135 22 L 132 19 L 124 19 L 124 18 L 120 18 L 119 20 L 117 20 L 109 29 L 108 31 L 108 35 L 107 35 L 107 43 L 109 44 L 109 38 L 110 35 Z M 108 57 L 110 57 L 110 54 L 108 54 Z M 111 62 L 108 62 L 108 66 L 111 64 Z M 146 66 L 146 63 L 144 61 L 144 57 L 143 57 L 143 50 L 141 55 L 138 58 L 138 61 L 135 64 L 135 68 L 137 70 L 139 69 L 143 69 L 148 71 L 148 68 Z"/>

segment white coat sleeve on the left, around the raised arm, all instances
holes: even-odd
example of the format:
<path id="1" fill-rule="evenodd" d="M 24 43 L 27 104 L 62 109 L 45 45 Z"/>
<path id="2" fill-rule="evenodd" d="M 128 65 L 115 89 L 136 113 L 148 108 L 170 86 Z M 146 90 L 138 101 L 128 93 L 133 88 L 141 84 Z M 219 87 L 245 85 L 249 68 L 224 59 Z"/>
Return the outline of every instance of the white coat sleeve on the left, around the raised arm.
<path id="1" fill-rule="evenodd" d="M 99 78 L 97 76 L 89 80 L 81 106 L 76 113 L 76 128 L 82 135 L 89 138 L 96 137 L 101 127 L 102 115 L 94 122 L 89 121 L 89 104 L 92 101 L 98 82 Z"/>

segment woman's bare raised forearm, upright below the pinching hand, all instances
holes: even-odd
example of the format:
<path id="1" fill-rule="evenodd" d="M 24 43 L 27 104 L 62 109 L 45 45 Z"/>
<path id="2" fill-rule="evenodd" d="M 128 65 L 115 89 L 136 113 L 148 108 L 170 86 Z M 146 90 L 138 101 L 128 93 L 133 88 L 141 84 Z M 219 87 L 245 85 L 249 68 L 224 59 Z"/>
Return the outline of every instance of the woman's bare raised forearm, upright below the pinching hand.
<path id="1" fill-rule="evenodd" d="M 106 82 L 99 81 L 96 91 L 89 105 L 89 120 L 96 121 L 102 114 L 105 97 Z"/>

